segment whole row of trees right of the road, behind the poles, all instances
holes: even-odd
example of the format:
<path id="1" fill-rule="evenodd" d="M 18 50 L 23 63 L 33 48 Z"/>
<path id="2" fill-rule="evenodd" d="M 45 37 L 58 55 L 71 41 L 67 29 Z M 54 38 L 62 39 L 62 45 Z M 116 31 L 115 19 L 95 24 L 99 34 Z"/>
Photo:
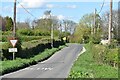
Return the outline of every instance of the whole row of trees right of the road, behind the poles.
<path id="1" fill-rule="evenodd" d="M 101 16 L 96 14 L 94 25 L 94 13 L 85 14 L 79 21 L 72 35 L 72 42 L 89 42 L 100 43 L 101 39 L 108 39 L 109 12 L 106 11 Z M 113 10 L 112 39 L 118 40 L 118 11 Z"/>

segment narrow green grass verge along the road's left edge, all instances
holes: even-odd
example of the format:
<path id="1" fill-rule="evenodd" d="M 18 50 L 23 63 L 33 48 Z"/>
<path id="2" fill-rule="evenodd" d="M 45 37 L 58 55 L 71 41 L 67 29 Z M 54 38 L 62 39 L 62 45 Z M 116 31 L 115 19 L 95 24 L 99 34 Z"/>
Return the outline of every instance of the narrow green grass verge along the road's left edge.
<path id="1" fill-rule="evenodd" d="M 9 72 L 13 72 L 22 68 L 25 68 L 27 66 L 37 64 L 40 61 L 48 59 L 50 56 L 52 56 L 56 51 L 64 48 L 65 46 L 60 46 L 59 48 L 52 48 L 52 49 L 46 49 L 44 52 L 39 53 L 38 55 L 30 58 L 30 59 L 21 59 L 17 58 L 16 60 L 6 60 L 6 61 L 0 61 L 0 65 L 2 66 L 0 69 L 0 73 L 6 74 Z"/>

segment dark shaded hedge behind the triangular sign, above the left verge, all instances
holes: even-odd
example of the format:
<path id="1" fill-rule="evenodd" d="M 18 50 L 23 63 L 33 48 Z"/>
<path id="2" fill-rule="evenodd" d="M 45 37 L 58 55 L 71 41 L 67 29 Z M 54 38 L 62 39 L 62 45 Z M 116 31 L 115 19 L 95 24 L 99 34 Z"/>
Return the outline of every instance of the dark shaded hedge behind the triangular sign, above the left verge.
<path id="1" fill-rule="evenodd" d="M 43 40 L 43 41 L 42 41 Z M 60 45 L 64 45 L 65 43 L 62 41 L 54 41 L 54 47 L 58 48 Z M 18 48 L 18 52 L 15 54 L 16 57 L 20 57 L 20 58 L 30 58 L 33 57 L 35 55 L 37 55 L 39 52 L 43 52 L 45 49 L 50 49 L 51 48 L 51 44 L 49 43 L 49 41 L 46 41 L 46 39 L 41 39 L 41 40 L 32 40 L 32 41 L 28 41 L 28 42 L 22 42 L 21 46 L 20 44 L 20 40 L 17 44 L 17 48 Z M 8 48 L 11 48 L 11 44 L 10 43 L 5 43 L 3 44 L 4 47 L 2 47 L 2 59 L 12 59 L 12 53 L 8 52 Z M 9 53 L 9 54 L 8 54 Z"/>

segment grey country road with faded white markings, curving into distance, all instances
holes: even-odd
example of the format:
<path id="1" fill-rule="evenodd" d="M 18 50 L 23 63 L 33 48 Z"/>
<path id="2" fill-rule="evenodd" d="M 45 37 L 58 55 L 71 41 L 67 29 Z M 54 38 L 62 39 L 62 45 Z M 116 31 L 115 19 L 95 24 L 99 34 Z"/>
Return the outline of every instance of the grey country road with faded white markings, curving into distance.
<path id="1" fill-rule="evenodd" d="M 67 78 L 70 68 L 81 50 L 81 44 L 69 44 L 48 60 L 3 75 L 3 78 Z"/>

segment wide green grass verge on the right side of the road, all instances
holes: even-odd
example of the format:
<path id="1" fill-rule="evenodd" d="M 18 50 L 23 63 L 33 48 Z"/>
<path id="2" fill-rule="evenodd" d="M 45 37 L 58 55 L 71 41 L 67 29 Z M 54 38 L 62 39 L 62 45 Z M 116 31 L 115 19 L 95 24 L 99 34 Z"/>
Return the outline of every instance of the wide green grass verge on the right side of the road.
<path id="1" fill-rule="evenodd" d="M 75 61 L 68 78 L 118 78 L 118 69 L 94 61 L 91 44 L 85 48 L 87 51 Z"/>

